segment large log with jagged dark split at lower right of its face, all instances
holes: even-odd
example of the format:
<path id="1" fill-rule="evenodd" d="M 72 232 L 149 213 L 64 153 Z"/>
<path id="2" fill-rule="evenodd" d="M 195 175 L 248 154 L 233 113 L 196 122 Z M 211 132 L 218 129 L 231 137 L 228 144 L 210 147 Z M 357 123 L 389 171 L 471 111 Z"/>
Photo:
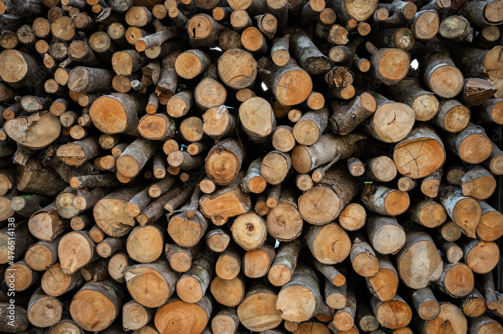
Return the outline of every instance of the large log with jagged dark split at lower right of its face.
<path id="1" fill-rule="evenodd" d="M 118 189 L 96 202 L 93 208 L 96 225 L 106 235 L 123 237 L 133 229 L 135 221 L 124 212 L 124 206 L 139 190 L 138 188 Z"/>

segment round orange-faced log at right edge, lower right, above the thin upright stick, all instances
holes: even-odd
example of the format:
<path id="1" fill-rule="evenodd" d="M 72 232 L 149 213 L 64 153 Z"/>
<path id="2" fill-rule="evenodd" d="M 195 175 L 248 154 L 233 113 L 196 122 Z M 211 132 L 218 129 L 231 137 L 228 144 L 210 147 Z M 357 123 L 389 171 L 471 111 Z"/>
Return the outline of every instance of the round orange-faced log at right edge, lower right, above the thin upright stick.
<path id="1" fill-rule="evenodd" d="M 494 242 L 468 239 L 460 244 L 463 260 L 477 274 L 486 274 L 496 267 L 499 249 Z"/>

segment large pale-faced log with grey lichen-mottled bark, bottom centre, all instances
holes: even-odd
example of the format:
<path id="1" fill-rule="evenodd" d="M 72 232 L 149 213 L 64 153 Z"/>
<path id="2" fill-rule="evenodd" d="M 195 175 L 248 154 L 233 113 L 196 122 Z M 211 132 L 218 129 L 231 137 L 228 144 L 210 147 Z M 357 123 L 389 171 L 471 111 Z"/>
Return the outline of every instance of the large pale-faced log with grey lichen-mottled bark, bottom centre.
<path id="1" fill-rule="evenodd" d="M 300 291 L 304 291 L 305 299 L 299 298 Z M 281 288 L 276 300 L 276 308 L 288 321 L 306 321 L 320 309 L 321 300 L 315 272 L 310 267 L 298 265 L 292 280 Z"/>

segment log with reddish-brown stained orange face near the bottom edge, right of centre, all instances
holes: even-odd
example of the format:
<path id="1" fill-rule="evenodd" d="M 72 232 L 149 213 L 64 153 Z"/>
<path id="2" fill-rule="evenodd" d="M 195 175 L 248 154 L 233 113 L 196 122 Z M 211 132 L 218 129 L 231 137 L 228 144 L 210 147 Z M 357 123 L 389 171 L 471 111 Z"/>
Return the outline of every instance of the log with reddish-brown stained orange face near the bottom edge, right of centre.
<path id="1" fill-rule="evenodd" d="M 371 304 L 377 321 L 383 327 L 401 328 L 408 325 L 412 319 L 412 309 L 399 295 L 395 295 L 387 302 L 372 297 Z"/>

